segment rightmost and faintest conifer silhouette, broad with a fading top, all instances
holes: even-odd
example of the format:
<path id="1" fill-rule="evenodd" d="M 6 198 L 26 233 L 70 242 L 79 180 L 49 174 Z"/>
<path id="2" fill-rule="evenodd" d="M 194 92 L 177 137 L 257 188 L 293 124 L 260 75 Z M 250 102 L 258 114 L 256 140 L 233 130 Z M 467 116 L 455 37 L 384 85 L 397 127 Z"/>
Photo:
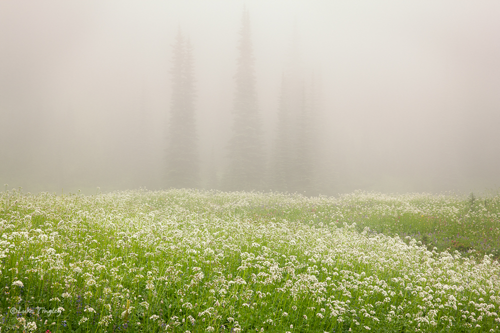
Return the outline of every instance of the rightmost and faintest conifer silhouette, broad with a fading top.
<path id="1" fill-rule="evenodd" d="M 317 87 L 314 77 L 310 84 L 304 77 L 296 24 L 290 46 L 288 68 L 281 80 L 271 183 L 277 191 L 315 195 L 322 187 Z"/>

